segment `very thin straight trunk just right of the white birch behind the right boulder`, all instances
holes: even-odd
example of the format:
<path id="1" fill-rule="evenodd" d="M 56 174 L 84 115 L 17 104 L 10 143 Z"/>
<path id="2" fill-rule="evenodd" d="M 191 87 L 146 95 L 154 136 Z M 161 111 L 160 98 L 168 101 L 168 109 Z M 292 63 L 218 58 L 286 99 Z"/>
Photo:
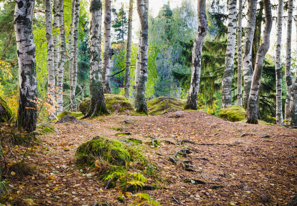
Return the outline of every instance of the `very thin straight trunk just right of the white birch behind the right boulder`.
<path id="1" fill-rule="evenodd" d="M 237 105 L 242 107 L 242 54 L 241 54 L 241 30 L 242 30 L 242 0 L 238 2 L 238 26 L 237 26 Z"/>

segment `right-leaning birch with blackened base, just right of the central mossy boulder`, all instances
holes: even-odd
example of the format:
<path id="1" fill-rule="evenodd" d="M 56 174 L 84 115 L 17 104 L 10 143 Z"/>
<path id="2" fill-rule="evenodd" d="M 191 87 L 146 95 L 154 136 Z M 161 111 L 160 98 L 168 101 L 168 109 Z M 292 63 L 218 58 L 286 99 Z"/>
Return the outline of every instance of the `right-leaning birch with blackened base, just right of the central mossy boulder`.
<path id="1" fill-rule="evenodd" d="M 198 31 L 192 50 L 192 76 L 189 96 L 184 109 L 197 110 L 197 98 L 200 85 L 201 52 L 207 33 L 206 0 L 198 1 Z"/>

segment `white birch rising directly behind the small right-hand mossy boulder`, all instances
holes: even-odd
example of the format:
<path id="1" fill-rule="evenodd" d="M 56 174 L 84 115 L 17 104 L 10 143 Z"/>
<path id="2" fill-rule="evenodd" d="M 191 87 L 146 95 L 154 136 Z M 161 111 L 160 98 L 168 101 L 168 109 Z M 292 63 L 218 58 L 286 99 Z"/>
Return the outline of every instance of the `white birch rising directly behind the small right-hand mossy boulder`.
<path id="1" fill-rule="evenodd" d="M 234 73 L 234 55 L 236 44 L 236 0 L 229 0 L 228 37 L 225 56 L 225 69 L 222 79 L 222 106 L 232 105 L 232 78 Z"/>

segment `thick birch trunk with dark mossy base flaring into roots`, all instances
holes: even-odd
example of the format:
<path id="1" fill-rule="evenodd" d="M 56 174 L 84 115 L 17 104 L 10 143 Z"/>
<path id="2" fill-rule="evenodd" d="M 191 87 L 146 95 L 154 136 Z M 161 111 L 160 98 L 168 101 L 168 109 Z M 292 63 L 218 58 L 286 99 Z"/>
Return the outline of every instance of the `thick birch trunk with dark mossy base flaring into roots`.
<path id="1" fill-rule="evenodd" d="M 101 15 L 102 1 L 91 0 L 90 2 L 90 108 L 86 117 L 94 117 L 101 114 L 108 114 L 105 105 L 102 86 L 102 65 L 101 65 Z"/>

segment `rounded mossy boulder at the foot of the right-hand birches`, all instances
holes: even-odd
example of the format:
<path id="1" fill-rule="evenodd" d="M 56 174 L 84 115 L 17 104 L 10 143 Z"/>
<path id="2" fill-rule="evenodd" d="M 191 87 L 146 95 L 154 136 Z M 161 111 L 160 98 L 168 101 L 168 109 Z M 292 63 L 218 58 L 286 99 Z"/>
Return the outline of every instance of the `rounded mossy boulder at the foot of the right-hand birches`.
<path id="1" fill-rule="evenodd" d="M 220 109 L 219 118 L 226 118 L 231 122 L 241 121 L 245 118 L 245 110 L 238 105 L 231 105 Z"/>

